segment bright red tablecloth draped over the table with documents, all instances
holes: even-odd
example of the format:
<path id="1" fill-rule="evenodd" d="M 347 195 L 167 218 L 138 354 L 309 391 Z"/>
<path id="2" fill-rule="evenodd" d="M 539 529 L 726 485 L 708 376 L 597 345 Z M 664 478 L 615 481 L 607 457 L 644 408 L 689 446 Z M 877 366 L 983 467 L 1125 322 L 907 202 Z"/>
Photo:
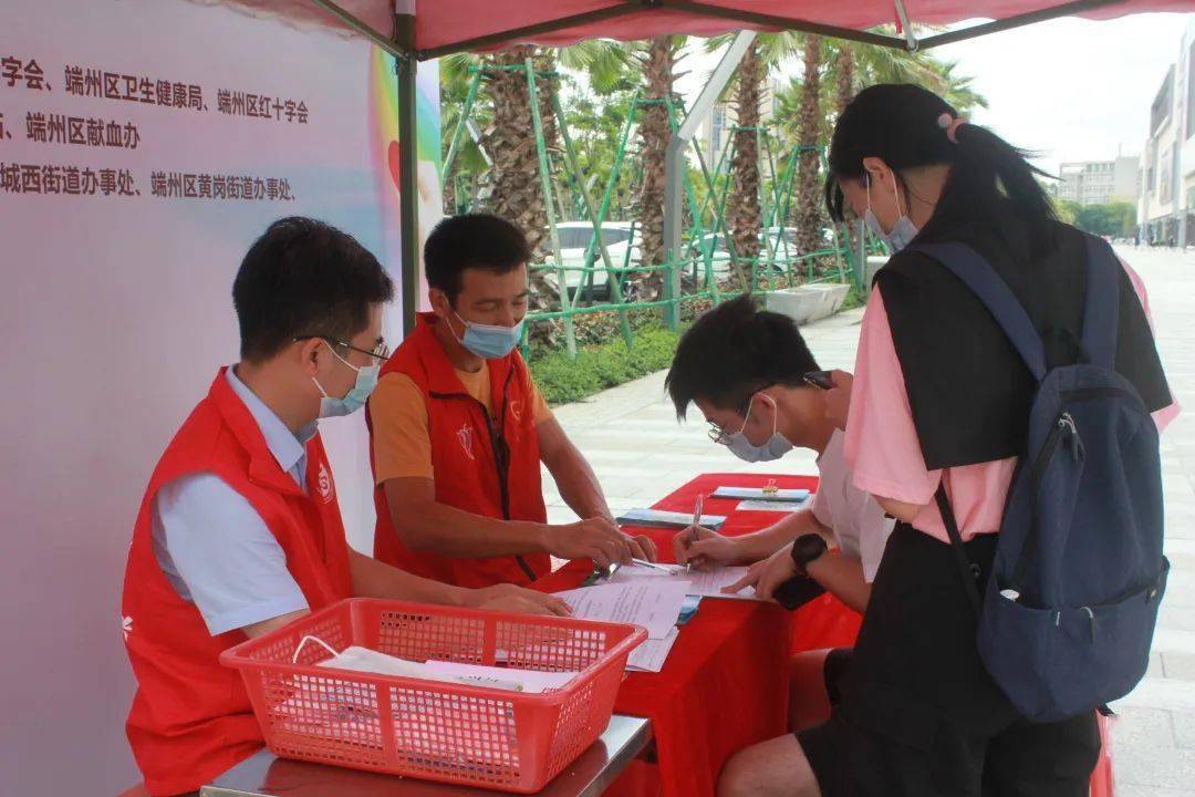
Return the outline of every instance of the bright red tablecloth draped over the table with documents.
<path id="1" fill-rule="evenodd" d="M 693 510 L 698 493 L 719 485 L 815 490 L 817 479 L 799 476 L 706 473 L 693 479 L 654 508 Z M 736 501 L 706 498 L 705 513 L 728 515 L 728 535 L 759 531 L 783 513 L 735 511 Z M 631 529 L 627 529 L 631 531 Z M 670 529 L 635 529 L 650 535 L 661 559 L 672 556 Z M 590 564 L 572 563 L 540 580 L 550 591 L 577 587 Z M 636 767 L 607 792 L 664 797 L 712 797 L 718 772 L 731 754 L 779 736 L 788 727 L 789 667 L 793 650 L 854 644 L 859 615 L 826 596 L 788 613 L 774 603 L 706 599 L 681 630 L 660 673 L 630 673 L 618 693 L 614 711 L 651 719 L 658 772 Z M 656 785 L 658 777 L 658 786 Z"/>

